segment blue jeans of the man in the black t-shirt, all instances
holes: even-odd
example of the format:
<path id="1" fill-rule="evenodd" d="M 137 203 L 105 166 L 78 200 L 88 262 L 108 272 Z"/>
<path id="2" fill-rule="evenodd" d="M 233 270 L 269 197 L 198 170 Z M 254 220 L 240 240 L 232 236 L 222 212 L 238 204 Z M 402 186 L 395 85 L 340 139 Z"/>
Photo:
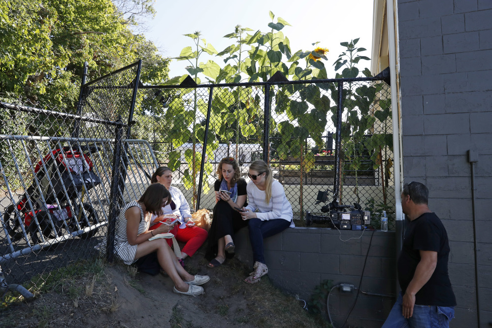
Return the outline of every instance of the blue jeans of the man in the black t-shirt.
<path id="1" fill-rule="evenodd" d="M 455 317 L 454 306 L 414 305 L 413 315 L 406 319 L 402 312 L 403 295 L 400 293 L 383 328 L 449 328 Z"/>

